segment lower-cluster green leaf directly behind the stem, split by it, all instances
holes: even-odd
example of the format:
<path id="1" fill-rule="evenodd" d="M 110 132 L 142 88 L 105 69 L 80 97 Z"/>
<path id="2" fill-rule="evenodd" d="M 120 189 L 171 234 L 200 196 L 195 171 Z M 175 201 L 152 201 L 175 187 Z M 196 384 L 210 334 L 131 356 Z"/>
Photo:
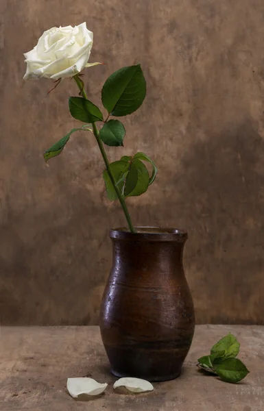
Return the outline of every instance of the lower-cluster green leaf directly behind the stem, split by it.
<path id="1" fill-rule="evenodd" d="M 122 192 L 124 179 L 126 175 L 128 175 L 129 163 L 124 160 L 115 161 L 110 164 L 110 169 L 112 171 L 112 174 L 114 175 L 117 187 Z M 112 185 L 111 179 L 106 170 L 103 173 L 103 177 L 104 183 L 106 184 L 106 192 L 108 195 L 108 199 L 110 199 L 110 201 L 117 200 L 117 193 L 115 192 L 115 188 Z"/>

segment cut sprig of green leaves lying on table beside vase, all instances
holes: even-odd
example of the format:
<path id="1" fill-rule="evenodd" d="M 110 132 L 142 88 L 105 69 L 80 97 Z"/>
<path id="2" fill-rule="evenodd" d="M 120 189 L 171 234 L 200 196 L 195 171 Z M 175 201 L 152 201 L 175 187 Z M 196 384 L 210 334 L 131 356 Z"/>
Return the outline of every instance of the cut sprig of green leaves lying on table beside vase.
<path id="1" fill-rule="evenodd" d="M 209 356 L 197 360 L 197 366 L 218 375 L 225 382 L 239 382 L 250 372 L 243 362 L 236 358 L 239 348 L 237 338 L 229 333 L 213 345 Z"/>

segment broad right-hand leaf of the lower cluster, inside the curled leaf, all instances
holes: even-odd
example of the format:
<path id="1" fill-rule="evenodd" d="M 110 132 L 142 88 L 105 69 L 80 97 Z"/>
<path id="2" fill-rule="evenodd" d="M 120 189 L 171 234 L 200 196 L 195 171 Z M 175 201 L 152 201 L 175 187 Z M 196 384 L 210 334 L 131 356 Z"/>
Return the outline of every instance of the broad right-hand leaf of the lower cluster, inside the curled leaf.
<path id="1" fill-rule="evenodd" d="M 125 197 L 143 194 L 149 186 L 149 173 L 141 160 L 133 158 L 125 180 Z"/>

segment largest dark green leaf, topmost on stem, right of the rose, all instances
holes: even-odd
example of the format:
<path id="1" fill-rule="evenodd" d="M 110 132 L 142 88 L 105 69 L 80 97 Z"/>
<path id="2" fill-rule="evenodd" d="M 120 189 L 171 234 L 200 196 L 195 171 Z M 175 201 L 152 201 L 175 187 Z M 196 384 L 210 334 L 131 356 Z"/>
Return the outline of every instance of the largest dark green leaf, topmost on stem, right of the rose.
<path id="1" fill-rule="evenodd" d="M 146 82 L 140 64 L 123 67 L 106 80 L 101 101 L 112 116 L 126 116 L 136 111 L 146 95 Z"/>

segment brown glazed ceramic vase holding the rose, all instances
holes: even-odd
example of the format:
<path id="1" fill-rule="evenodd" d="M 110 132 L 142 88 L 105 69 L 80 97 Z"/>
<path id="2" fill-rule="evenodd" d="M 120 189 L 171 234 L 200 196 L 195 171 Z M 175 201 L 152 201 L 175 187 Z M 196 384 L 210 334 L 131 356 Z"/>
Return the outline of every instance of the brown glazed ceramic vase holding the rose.
<path id="1" fill-rule="evenodd" d="M 112 229 L 113 262 L 100 312 L 101 338 L 117 377 L 166 381 L 180 375 L 195 327 L 182 266 L 187 232 Z"/>

